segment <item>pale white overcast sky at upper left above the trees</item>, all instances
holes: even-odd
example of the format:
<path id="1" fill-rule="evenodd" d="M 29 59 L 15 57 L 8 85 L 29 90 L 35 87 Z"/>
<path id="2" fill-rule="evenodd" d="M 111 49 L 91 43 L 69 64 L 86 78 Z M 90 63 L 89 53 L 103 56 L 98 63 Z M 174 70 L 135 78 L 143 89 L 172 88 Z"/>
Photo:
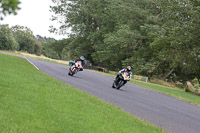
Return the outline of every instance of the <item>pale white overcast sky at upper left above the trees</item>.
<path id="1" fill-rule="evenodd" d="M 0 24 L 9 24 L 9 27 L 26 26 L 33 31 L 34 35 L 42 37 L 53 37 L 57 40 L 67 38 L 67 35 L 56 35 L 48 31 L 51 25 L 59 26 L 57 22 L 50 20 L 53 15 L 49 11 L 49 6 L 53 5 L 52 0 L 20 0 L 20 2 L 21 9 L 17 11 L 17 15 L 5 16 L 3 21 L 0 20 Z"/>

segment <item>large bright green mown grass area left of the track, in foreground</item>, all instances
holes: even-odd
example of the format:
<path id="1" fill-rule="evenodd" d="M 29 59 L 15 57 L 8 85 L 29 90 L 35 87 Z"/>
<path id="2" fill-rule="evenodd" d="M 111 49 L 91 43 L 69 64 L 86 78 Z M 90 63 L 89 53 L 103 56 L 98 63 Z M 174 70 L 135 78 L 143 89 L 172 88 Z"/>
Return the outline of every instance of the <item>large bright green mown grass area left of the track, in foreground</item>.
<path id="1" fill-rule="evenodd" d="M 157 133 L 120 108 L 0 54 L 1 133 Z"/>

